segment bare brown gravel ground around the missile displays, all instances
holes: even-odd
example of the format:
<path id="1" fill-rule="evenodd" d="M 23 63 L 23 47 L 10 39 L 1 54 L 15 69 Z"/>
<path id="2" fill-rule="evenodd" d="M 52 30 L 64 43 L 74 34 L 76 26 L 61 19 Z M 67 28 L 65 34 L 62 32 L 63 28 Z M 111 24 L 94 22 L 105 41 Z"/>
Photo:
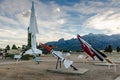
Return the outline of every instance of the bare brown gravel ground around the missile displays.
<path id="1" fill-rule="evenodd" d="M 69 57 L 74 60 L 74 66 L 78 69 L 86 68 L 89 69 L 82 75 L 72 74 L 60 74 L 48 72 L 47 69 L 55 68 L 56 59 L 53 56 L 40 57 L 40 64 L 36 64 L 33 60 L 20 61 L 14 63 L 14 60 L 0 60 L 0 80 L 114 80 L 120 76 L 120 65 L 117 65 L 117 71 L 114 71 L 112 66 L 110 69 L 108 66 L 96 66 L 94 62 L 81 62 L 82 60 L 77 58 L 78 55 Z M 112 55 L 113 56 L 113 55 Z M 114 60 L 119 54 L 110 57 Z M 6 63 L 7 64 L 3 64 Z M 9 62 L 13 62 L 9 64 Z M 64 68 L 62 64 L 62 68 Z M 71 70 L 71 69 L 69 69 Z"/>

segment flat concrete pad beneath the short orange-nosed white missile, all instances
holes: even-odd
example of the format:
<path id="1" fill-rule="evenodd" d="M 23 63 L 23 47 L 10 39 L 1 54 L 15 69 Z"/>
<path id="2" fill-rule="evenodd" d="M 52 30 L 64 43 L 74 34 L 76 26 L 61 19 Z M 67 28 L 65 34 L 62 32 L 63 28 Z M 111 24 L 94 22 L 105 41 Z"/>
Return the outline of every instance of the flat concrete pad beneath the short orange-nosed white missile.
<path id="1" fill-rule="evenodd" d="M 53 73 L 61 73 L 61 74 L 84 74 L 88 71 L 88 69 L 78 69 L 78 71 L 68 70 L 68 69 L 48 69 L 47 71 Z"/>

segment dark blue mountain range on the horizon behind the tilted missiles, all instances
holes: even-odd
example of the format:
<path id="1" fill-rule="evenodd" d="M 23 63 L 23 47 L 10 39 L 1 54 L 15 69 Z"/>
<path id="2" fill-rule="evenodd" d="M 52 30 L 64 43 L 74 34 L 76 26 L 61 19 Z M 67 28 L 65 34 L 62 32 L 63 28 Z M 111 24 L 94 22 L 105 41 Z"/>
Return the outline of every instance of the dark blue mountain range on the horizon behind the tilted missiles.
<path id="1" fill-rule="evenodd" d="M 112 45 L 113 49 L 120 46 L 120 34 L 116 35 L 105 35 L 105 34 L 87 34 L 82 36 L 82 38 L 97 49 L 104 50 L 106 46 Z M 47 42 L 47 45 L 57 46 L 56 50 L 82 50 L 81 44 L 77 38 L 72 38 L 70 40 L 64 40 L 64 38 L 58 41 Z"/>

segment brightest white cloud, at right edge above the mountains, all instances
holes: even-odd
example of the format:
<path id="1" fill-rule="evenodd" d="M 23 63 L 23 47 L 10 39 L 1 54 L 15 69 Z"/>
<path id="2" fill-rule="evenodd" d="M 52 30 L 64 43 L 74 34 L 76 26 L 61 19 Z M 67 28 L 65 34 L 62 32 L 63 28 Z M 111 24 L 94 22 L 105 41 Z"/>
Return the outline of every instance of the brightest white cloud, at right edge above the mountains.
<path id="1" fill-rule="evenodd" d="M 91 29 L 102 30 L 107 34 L 120 33 L 120 14 L 114 11 L 107 11 L 89 18 L 85 26 Z"/>

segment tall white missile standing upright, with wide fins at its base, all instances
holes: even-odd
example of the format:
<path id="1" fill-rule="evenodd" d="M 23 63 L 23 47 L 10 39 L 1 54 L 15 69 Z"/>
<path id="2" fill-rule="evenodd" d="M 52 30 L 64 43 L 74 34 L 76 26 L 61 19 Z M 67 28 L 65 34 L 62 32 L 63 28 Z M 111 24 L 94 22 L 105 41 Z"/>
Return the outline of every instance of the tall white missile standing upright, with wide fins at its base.
<path id="1" fill-rule="evenodd" d="M 38 60 L 36 54 L 42 54 L 42 51 L 36 48 L 36 34 L 39 33 L 37 27 L 37 21 L 35 16 L 34 2 L 32 2 L 30 24 L 29 24 L 29 33 L 31 33 L 31 49 L 27 50 L 25 54 L 33 54 L 35 56 L 35 61 Z"/>

